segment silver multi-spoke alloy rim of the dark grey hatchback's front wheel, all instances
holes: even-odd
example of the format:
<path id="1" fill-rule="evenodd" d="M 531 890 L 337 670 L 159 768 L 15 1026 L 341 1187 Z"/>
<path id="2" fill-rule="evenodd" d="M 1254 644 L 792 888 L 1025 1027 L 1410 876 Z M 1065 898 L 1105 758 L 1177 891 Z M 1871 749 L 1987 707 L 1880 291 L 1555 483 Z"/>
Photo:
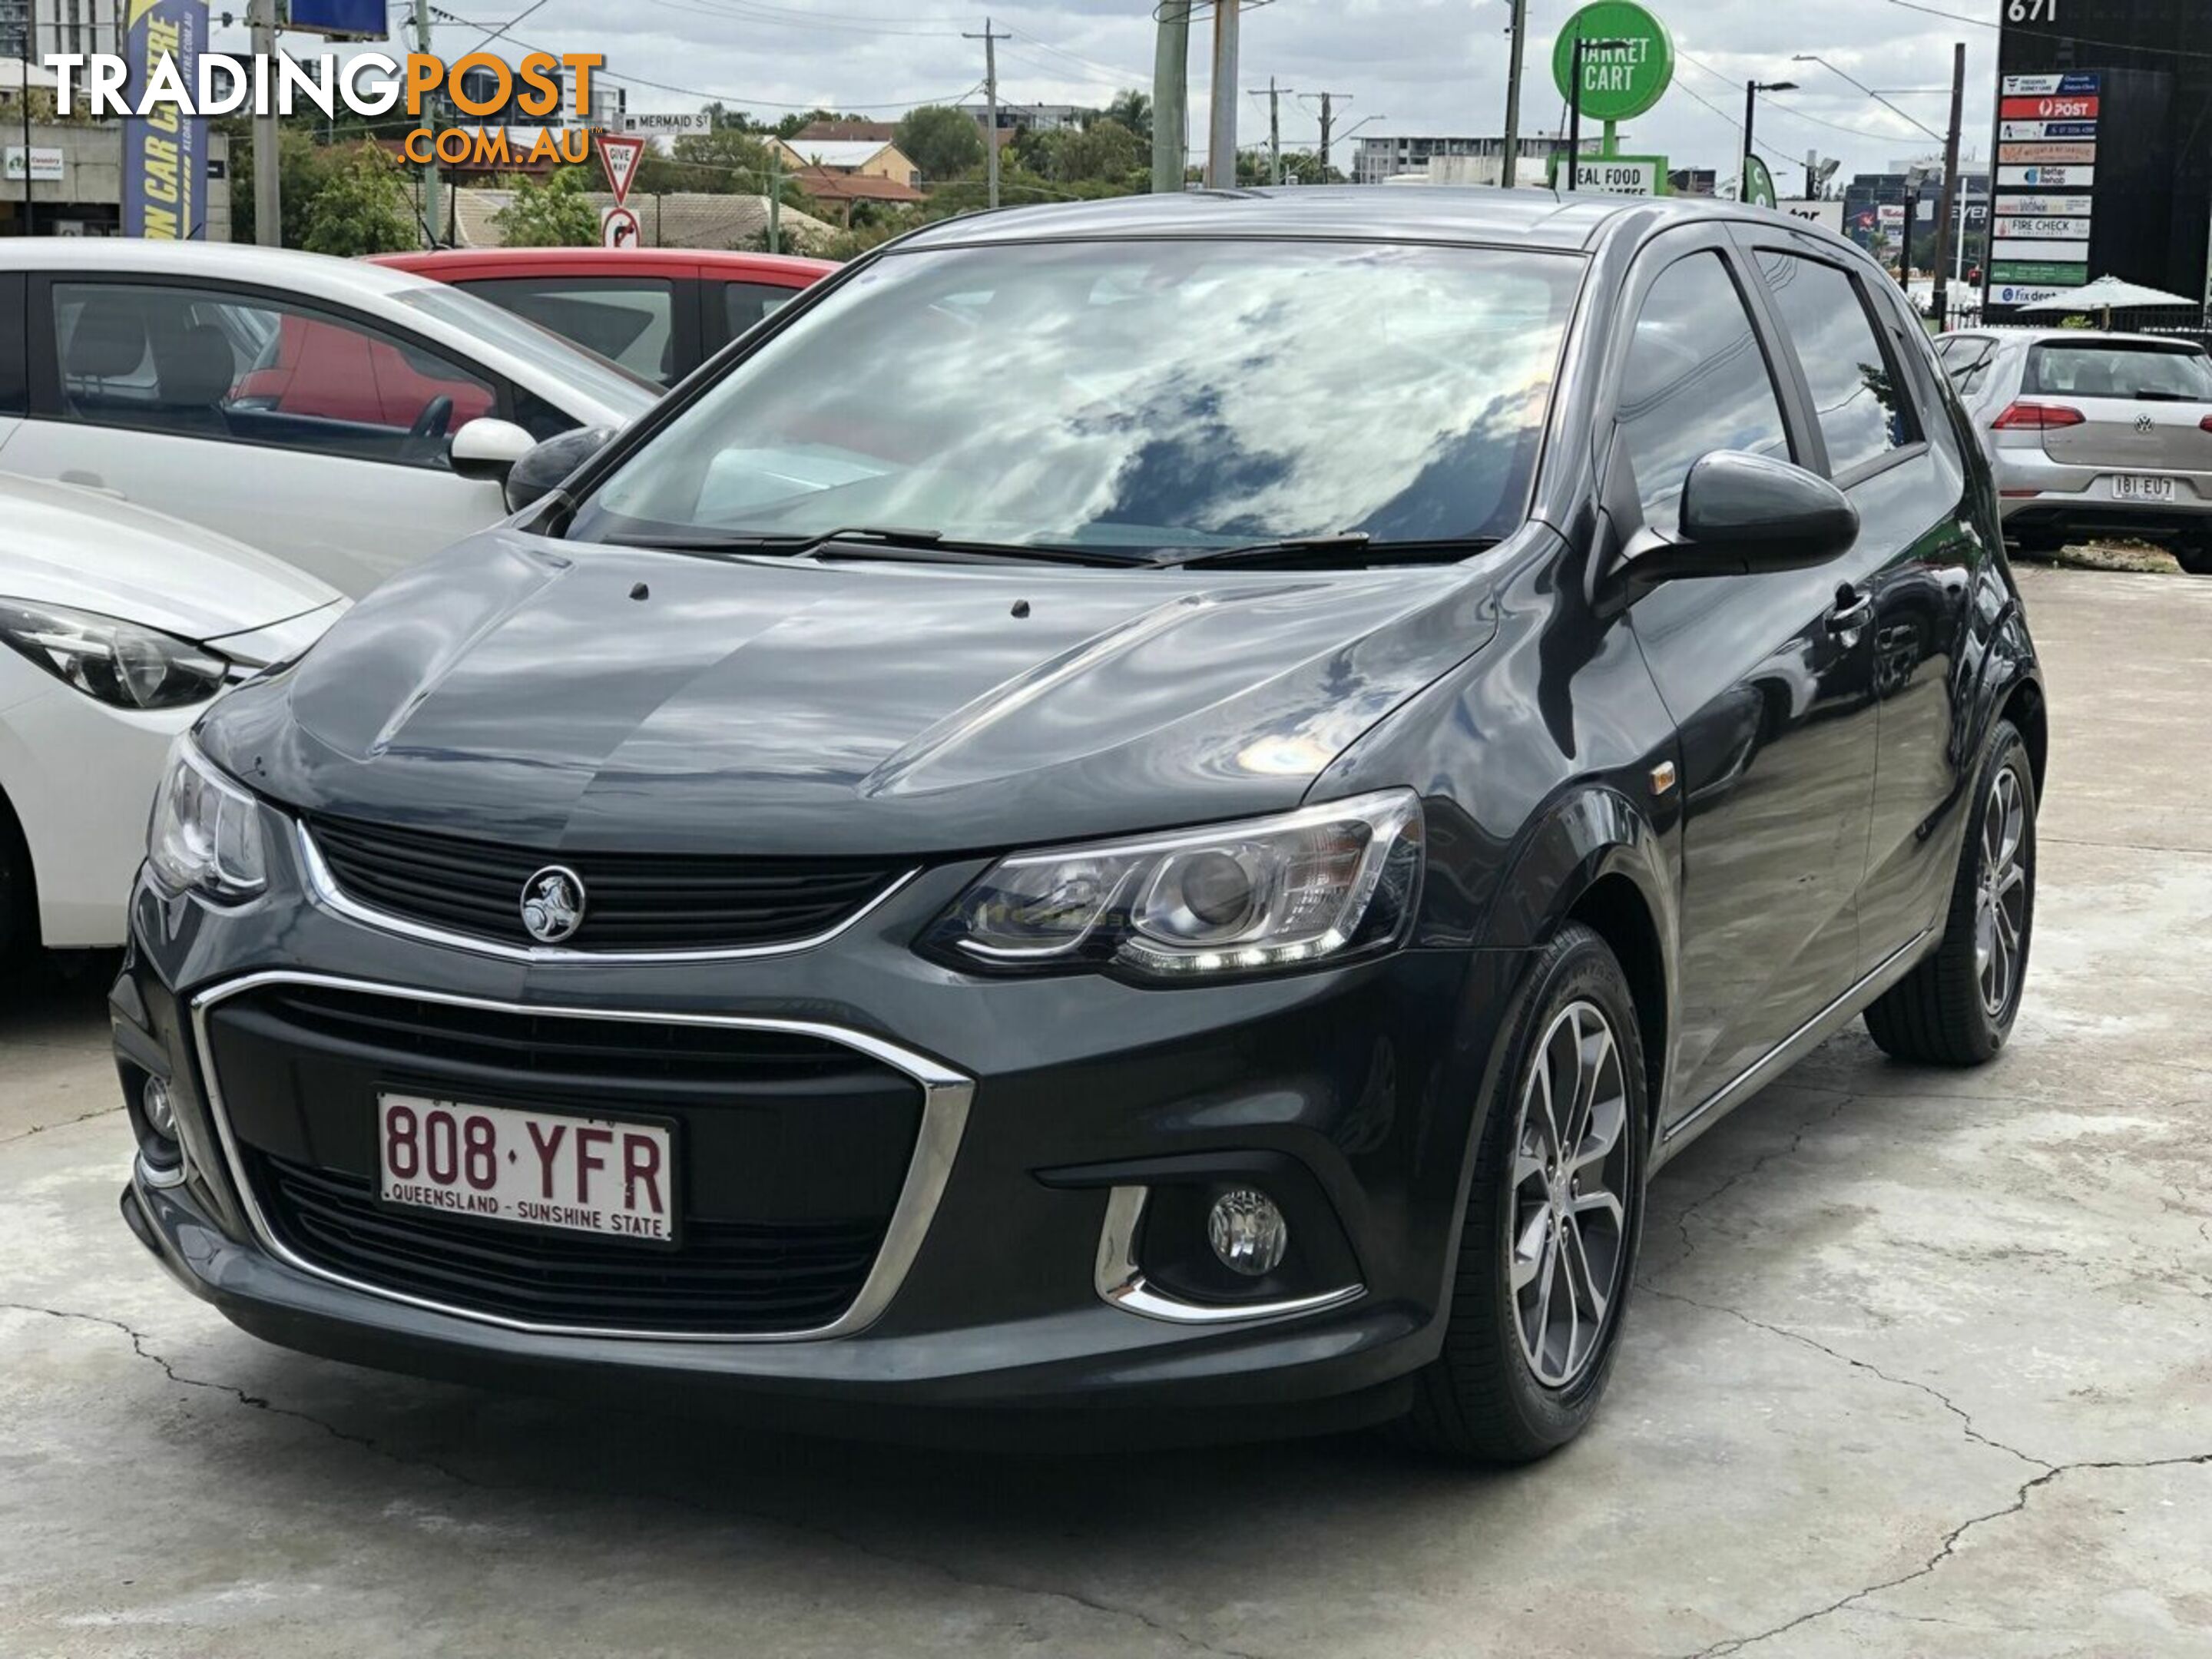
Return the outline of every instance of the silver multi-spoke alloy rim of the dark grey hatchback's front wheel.
<path id="1" fill-rule="evenodd" d="M 1522 1358 L 1564 1389 L 1597 1356 L 1628 1254 L 1628 1088 L 1595 1002 L 1537 1044 L 1513 1133 L 1506 1272 Z"/>

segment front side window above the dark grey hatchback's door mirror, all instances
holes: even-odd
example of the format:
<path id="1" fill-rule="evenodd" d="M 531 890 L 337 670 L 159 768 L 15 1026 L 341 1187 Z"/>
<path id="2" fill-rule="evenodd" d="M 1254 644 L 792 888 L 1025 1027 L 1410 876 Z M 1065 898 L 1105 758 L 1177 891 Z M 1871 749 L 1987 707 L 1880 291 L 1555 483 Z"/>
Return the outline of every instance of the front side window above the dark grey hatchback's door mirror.
<path id="1" fill-rule="evenodd" d="M 1790 458 L 1790 429 L 1765 352 L 1719 254 L 1690 254 L 1637 312 L 1619 431 L 1644 522 L 1672 531 L 1690 467 L 1714 449 Z"/>

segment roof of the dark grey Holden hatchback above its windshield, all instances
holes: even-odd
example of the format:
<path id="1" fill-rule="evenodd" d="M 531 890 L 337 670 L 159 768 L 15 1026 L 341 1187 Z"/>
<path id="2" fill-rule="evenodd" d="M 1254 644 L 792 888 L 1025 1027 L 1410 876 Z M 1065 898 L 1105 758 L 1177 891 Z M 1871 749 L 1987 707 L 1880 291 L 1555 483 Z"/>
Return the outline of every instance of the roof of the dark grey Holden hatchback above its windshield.
<path id="1" fill-rule="evenodd" d="M 1774 217 L 1714 197 L 1650 199 L 1557 195 L 1553 190 L 1334 184 L 1274 190 L 1183 190 L 1179 195 L 1000 208 L 927 226 L 905 237 L 900 246 L 1225 234 L 1511 241 L 1582 250 L 1590 248 L 1608 223 L 1628 212 L 1655 221 Z"/>

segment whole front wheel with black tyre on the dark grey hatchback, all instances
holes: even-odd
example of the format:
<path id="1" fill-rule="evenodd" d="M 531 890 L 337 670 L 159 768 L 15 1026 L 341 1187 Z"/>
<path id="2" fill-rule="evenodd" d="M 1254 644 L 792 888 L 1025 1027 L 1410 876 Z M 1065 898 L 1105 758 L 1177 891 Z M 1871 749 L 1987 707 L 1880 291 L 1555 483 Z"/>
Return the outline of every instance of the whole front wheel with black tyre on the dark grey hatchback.
<path id="1" fill-rule="evenodd" d="M 1500 1044 L 1444 1352 L 1398 1436 L 1444 1458 L 1533 1462 L 1597 1411 L 1644 1223 L 1644 1046 L 1597 933 L 1571 925 L 1537 953 Z"/>

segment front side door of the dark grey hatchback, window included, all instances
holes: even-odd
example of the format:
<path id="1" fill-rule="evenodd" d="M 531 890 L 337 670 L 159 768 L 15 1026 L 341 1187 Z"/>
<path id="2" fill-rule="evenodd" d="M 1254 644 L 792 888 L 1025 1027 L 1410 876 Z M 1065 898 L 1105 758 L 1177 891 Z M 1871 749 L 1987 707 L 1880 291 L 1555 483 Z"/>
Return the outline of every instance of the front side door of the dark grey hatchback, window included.
<path id="1" fill-rule="evenodd" d="M 1683 482 L 1734 449 L 1825 471 L 1794 361 L 1725 232 L 1637 265 L 1608 509 L 1679 533 Z M 1863 560 L 1670 582 L 1630 626 L 1679 728 L 1681 956 L 1670 1099 L 1690 1115 L 1856 978 L 1876 710 Z"/>

